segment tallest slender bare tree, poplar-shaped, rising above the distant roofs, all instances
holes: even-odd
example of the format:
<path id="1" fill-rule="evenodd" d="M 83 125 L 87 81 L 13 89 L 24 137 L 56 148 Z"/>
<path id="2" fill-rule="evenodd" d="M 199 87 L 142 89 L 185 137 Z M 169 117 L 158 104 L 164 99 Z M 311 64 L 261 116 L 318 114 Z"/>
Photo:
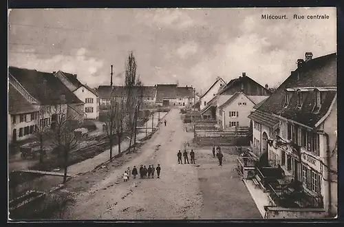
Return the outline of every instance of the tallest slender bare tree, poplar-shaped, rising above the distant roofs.
<path id="1" fill-rule="evenodd" d="M 134 126 L 134 114 L 136 112 L 136 60 L 133 56 L 133 52 L 131 52 L 128 56 L 126 68 L 125 68 L 125 93 L 126 93 L 126 109 L 129 120 L 127 121 L 127 129 L 130 133 L 130 142 L 129 142 L 129 149 L 131 147 L 131 142 L 133 139 L 133 126 Z"/>

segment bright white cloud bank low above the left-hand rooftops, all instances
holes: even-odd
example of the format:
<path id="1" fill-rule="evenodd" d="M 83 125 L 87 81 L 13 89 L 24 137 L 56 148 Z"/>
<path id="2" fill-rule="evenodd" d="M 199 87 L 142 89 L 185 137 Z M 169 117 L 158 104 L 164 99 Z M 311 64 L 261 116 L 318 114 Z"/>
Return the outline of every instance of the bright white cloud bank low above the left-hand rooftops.
<path id="1" fill-rule="evenodd" d="M 28 51 L 28 50 L 26 50 Z M 61 70 L 71 74 L 77 74 L 81 83 L 87 85 L 98 85 L 102 78 L 98 71 L 102 69 L 104 63 L 100 59 L 88 58 L 85 56 L 87 50 L 80 48 L 75 55 L 56 55 L 52 58 L 42 59 L 36 54 L 10 53 L 10 65 L 27 69 L 36 69 L 42 72 L 53 72 Z"/>

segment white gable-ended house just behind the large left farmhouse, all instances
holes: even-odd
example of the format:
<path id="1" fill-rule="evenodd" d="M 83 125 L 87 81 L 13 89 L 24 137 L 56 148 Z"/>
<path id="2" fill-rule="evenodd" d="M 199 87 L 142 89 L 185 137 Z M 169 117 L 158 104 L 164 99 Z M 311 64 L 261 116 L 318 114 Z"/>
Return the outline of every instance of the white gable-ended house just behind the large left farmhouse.
<path id="1" fill-rule="evenodd" d="M 68 87 L 69 91 L 72 91 L 84 102 L 83 111 L 85 112 L 86 119 L 99 118 L 99 97 L 94 89 L 80 83 L 76 74 L 69 74 L 61 71 L 53 72 L 53 74 L 59 78 L 66 87 Z"/>

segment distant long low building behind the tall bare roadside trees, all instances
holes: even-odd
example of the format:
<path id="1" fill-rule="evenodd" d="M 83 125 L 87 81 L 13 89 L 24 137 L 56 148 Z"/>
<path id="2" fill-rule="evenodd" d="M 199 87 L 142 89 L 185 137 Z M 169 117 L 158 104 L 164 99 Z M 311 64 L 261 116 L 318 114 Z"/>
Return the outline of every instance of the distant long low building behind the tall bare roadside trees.
<path id="1" fill-rule="evenodd" d="M 142 94 L 141 94 L 142 91 Z M 111 86 L 108 85 L 100 85 L 97 89 L 99 95 L 99 102 L 102 106 L 110 105 L 110 97 L 113 96 L 114 98 L 123 98 L 127 96 L 127 91 L 125 86 Z M 152 105 L 155 103 L 156 99 L 156 89 L 153 86 L 142 86 L 136 87 L 133 91 L 136 92 L 138 96 L 142 95 L 142 101 L 145 105 Z M 112 93 L 112 94 L 111 94 Z"/>

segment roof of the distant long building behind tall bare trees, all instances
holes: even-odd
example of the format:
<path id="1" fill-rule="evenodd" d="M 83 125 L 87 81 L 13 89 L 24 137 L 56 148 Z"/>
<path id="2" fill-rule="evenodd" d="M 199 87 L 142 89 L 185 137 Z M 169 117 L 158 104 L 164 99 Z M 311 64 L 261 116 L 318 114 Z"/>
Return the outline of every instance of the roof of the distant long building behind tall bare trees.
<path id="1" fill-rule="evenodd" d="M 125 86 L 113 86 L 115 97 L 126 96 Z M 138 89 L 138 88 L 137 88 Z M 143 97 L 154 97 L 155 96 L 155 87 L 153 86 L 142 86 L 142 95 Z M 97 94 L 99 98 L 110 98 L 111 96 L 111 87 L 109 85 L 100 85 L 97 89 Z"/>

